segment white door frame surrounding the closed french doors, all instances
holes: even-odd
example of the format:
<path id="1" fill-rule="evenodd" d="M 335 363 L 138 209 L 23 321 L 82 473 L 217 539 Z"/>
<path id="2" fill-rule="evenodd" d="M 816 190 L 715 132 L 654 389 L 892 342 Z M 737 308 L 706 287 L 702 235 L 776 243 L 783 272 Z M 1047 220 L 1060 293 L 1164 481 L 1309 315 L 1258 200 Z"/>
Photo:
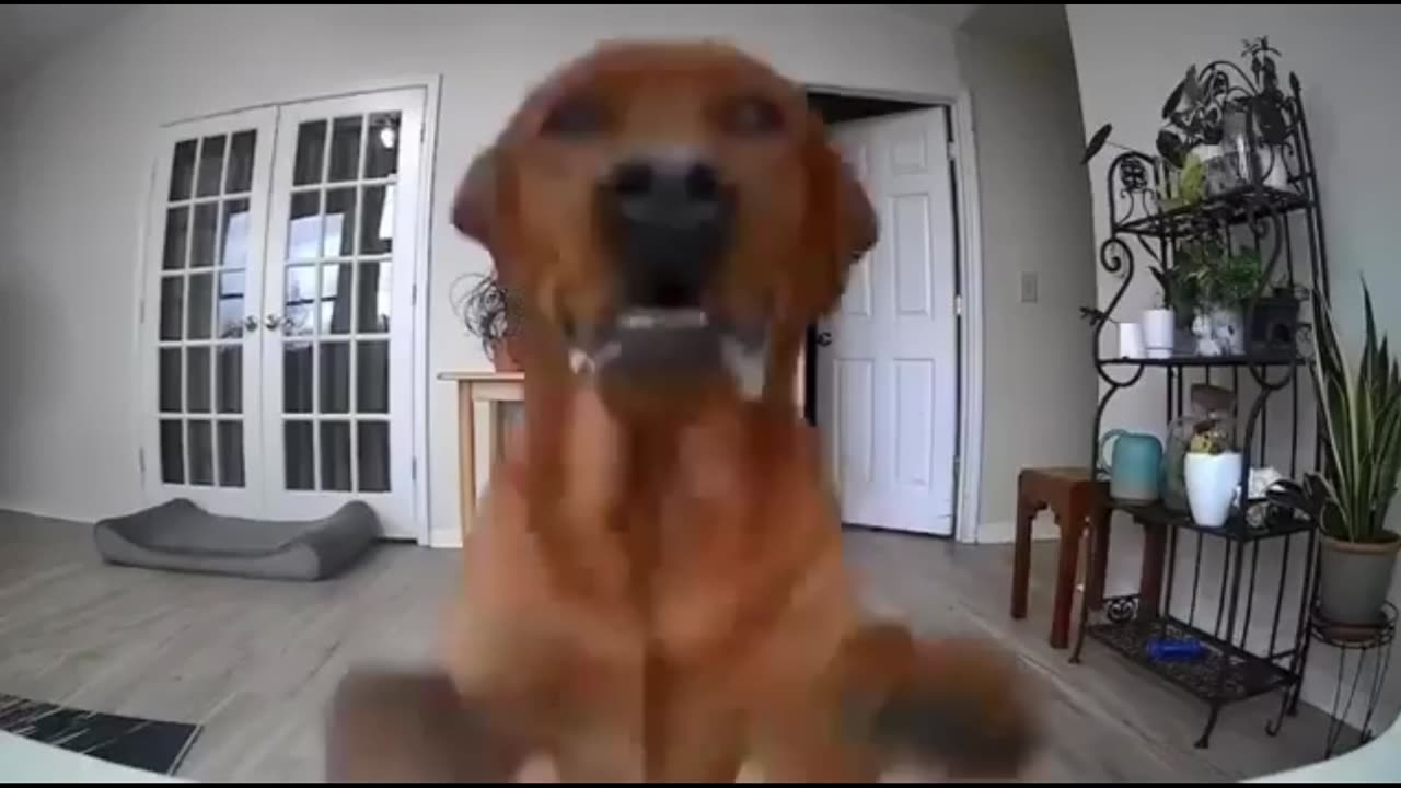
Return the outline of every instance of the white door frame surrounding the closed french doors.
<path id="1" fill-rule="evenodd" d="M 396 90 L 396 88 L 422 88 L 423 90 L 423 140 L 420 144 L 420 161 L 422 161 L 422 177 L 419 178 L 419 215 L 416 217 L 415 227 L 415 261 L 413 261 L 413 369 L 410 374 L 413 376 L 413 397 L 412 402 L 412 433 L 413 433 L 413 522 L 417 531 L 417 543 L 422 545 L 430 544 L 430 513 L 429 513 L 429 308 L 427 299 L 419 299 L 419 294 L 427 290 L 429 282 L 429 261 L 433 257 L 432 244 L 432 227 L 433 227 L 433 186 L 437 174 L 437 126 L 439 126 L 439 107 L 440 95 L 443 88 L 443 74 L 410 74 L 403 77 L 389 77 L 389 79 L 371 79 L 371 80 L 357 80 L 352 83 L 328 84 L 324 88 L 301 90 L 289 95 L 269 97 L 263 101 L 245 102 L 238 107 L 195 107 L 191 114 L 179 115 L 170 121 L 157 123 L 144 143 L 146 161 L 150 163 L 146 178 L 144 188 L 137 186 L 139 193 L 144 199 L 134 201 L 136 203 L 136 227 L 137 227 L 137 241 L 134 244 L 134 269 L 136 282 L 132 292 L 132 303 L 136 307 L 133 314 L 140 314 L 144 299 L 144 285 L 147 275 L 147 259 L 149 244 L 147 237 L 151 231 L 153 216 L 149 210 L 149 205 L 154 193 L 163 188 L 163 184 L 157 182 L 157 165 L 160 157 L 165 153 L 161 143 L 165 139 L 167 130 L 172 126 L 188 123 L 191 121 L 200 121 L 205 118 L 226 115 L 231 112 L 241 112 L 245 109 L 255 109 L 261 107 L 275 107 L 280 104 L 294 104 L 300 101 L 314 101 L 318 98 L 336 98 L 342 95 L 356 95 L 361 93 L 377 93 L 382 90 Z M 196 101 L 205 101 L 199 98 Z M 133 369 L 142 370 L 143 346 L 142 346 L 142 322 L 133 321 L 130 328 L 132 346 L 129 356 L 132 359 Z M 149 415 L 144 412 L 144 386 L 143 377 L 137 380 L 137 391 L 132 402 L 132 423 L 136 425 L 133 429 L 134 437 L 134 451 L 132 453 L 132 461 L 140 463 L 140 449 L 143 444 L 142 423 Z M 140 473 L 140 471 L 139 471 Z M 143 481 L 144 487 L 144 481 Z M 144 496 L 144 494 L 143 494 Z"/>

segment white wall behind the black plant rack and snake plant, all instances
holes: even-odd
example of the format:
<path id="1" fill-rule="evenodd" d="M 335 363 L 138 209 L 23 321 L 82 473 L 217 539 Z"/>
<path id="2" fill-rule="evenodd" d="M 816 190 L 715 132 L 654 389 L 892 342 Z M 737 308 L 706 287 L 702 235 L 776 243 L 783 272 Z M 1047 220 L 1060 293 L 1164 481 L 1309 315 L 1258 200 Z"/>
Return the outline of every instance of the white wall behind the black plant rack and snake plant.
<path id="1" fill-rule="evenodd" d="M 1401 248 L 1401 156 L 1395 154 L 1395 130 L 1401 128 L 1397 79 L 1401 50 L 1394 43 L 1395 31 L 1401 29 L 1401 8 L 1271 6 L 1268 13 L 1226 4 L 1066 8 L 1086 126 L 1112 122 L 1117 142 L 1142 150 L 1152 150 L 1161 102 L 1188 63 L 1234 59 L 1243 39 L 1268 35 L 1283 53 L 1282 76 L 1293 70 L 1303 84 L 1323 191 L 1334 308 L 1344 315 L 1342 327 L 1356 345 L 1362 330 L 1359 275 L 1365 275 L 1380 304 L 1381 328 L 1394 341 L 1401 339 L 1401 310 L 1388 308 L 1401 297 L 1401 265 L 1395 262 Z M 1101 156 L 1091 165 L 1097 243 L 1107 236 L 1104 167 L 1110 158 Z M 1098 273 L 1101 306 L 1115 286 L 1110 275 Z M 1136 282 L 1122 308 L 1143 308 L 1153 296 L 1150 285 Z M 1105 428 L 1161 433 L 1161 384 L 1146 380 L 1111 404 Z M 1307 404 L 1303 409 L 1309 411 Z M 1393 522 L 1401 523 L 1397 509 L 1393 508 Z M 1261 562 L 1278 576 L 1278 558 L 1262 557 Z M 1286 572 L 1297 578 L 1302 566 L 1292 561 Z M 1393 587 L 1391 599 L 1401 597 L 1398 590 Z M 1331 701 L 1335 663 L 1330 649 L 1318 651 L 1310 663 L 1304 698 L 1324 704 Z M 1390 724 L 1398 709 L 1401 681 L 1393 680 L 1379 712 L 1381 725 Z"/>

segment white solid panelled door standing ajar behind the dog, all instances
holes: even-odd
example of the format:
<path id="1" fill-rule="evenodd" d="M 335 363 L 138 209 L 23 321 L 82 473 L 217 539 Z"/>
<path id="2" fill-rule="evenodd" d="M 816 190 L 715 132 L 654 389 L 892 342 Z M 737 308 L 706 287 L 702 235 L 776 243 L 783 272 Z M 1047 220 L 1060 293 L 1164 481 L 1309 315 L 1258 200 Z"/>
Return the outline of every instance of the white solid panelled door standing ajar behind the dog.
<path id="1" fill-rule="evenodd" d="M 880 217 L 820 330 L 818 423 L 842 522 L 953 533 L 954 223 L 946 109 L 841 123 L 832 136 Z"/>

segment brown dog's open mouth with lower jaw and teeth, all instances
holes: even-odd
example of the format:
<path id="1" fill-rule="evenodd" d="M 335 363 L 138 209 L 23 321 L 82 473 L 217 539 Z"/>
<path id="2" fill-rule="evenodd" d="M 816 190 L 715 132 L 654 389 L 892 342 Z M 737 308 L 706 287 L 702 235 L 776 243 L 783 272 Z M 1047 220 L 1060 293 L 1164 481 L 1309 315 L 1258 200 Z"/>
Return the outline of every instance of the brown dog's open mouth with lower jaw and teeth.
<path id="1" fill-rule="evenodd" d="M 724 370 L 757 400 L 768 372 L 768 332 L 703 308 L 628 308 L 570 349 L 574 374 L 684 376 Z"/>

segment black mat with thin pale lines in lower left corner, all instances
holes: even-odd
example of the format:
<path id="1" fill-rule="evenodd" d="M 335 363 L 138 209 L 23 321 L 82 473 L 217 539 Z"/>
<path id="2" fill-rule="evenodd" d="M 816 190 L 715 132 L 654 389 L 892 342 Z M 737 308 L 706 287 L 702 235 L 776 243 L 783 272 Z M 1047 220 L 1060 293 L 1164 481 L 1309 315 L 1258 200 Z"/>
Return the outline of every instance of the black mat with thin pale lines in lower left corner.
<path id="1" fill-rule="evenodd" d="M 0 693 L 0 731 L 120 766 L 174 775 L 200 726 L 67 708 Z"/>

